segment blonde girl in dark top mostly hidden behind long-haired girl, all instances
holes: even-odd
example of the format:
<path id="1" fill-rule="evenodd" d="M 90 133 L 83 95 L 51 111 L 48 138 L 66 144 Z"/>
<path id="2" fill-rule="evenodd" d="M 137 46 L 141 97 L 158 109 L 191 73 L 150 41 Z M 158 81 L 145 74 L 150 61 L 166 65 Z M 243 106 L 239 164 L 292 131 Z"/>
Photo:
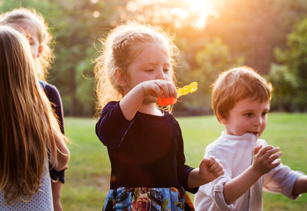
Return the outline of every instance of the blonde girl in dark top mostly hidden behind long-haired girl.
<path id="1" fill-rule="evenodd" d="M 0 24 L 11 26 L 22 32 L 28 39 L 31 47 L 33 61 L 40 84 L 51 101 L 59 120 L 60 128 L 64 134 L 64 114 L 61 96 L 57 88 L 46 82 L 48 71 L 54 61 L 54 39 L 49 32 L 48 23 L 42 14 L 32 8 L 16 8 L 0 15 Z M 52 193 L 55 211 L 62 211 L 60 196 L 64 183 L 65 169 L 58 172 L 50 170 L 52 179 Z"/>

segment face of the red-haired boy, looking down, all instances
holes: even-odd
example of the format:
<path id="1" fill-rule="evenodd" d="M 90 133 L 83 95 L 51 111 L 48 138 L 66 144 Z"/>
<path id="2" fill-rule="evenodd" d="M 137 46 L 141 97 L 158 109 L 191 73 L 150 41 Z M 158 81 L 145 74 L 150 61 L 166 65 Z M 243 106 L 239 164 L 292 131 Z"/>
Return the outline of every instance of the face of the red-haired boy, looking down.
<path id="1" fill-rule="evenodd" d="M 229 111 L 227 119 L 220 118 L 220 120 L 227 134 L 241 136 L 250 132 L 256 134 L 258 139 L 266 127 L 269 110 L 269 101 L 260 103 L 258 100 L 243 99 Z"/>

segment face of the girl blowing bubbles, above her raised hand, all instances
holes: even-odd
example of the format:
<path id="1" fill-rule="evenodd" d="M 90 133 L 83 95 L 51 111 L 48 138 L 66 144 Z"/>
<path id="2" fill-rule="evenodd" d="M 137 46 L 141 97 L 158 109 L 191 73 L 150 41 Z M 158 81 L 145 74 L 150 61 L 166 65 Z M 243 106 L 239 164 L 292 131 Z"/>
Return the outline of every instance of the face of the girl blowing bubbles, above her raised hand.
<path id="1" fill-rule="evenodd" d="M 163 79 L 171 82 L 171 63 L 167 51 L 155 43 L 145 44 L 129 65 L 127 74 L 126 94 L 143 81 Z"/>

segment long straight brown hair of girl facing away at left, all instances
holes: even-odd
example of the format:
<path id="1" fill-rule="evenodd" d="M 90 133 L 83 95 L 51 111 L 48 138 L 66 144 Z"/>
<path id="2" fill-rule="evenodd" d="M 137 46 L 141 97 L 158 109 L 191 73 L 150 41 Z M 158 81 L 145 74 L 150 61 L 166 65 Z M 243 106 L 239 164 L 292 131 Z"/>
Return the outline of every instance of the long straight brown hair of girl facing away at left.
<path id="1" fill-rule="evenodd" d="M 29 201 L 40 189 L 48 152 L 57 149 L 52 128 L 61 132 L 26 38 L 0 26 L 0 52 L 0 191 L 12 204 Z"/>

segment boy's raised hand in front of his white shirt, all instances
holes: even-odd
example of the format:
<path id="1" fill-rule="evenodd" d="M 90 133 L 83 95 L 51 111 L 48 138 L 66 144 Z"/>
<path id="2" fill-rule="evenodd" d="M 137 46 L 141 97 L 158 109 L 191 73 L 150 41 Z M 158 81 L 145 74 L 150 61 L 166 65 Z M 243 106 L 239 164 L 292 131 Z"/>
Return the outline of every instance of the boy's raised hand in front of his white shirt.
<path id="1" fill-rule="evenodd" d="M 262 148 L 261 146 L 256 146 L 252 168 L 262 176 L 281 164 L 279 159 L 281 155 L 280 147 L 269 145 Z"/>

